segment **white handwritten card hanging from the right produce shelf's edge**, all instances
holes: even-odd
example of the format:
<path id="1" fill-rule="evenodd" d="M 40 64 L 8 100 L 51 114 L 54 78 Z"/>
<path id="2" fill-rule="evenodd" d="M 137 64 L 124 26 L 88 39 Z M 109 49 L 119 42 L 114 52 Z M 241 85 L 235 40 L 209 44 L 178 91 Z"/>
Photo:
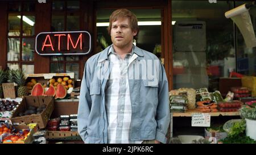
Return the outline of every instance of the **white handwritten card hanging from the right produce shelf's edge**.
<path id="1" fill-rule="evenodd" d="M 193 113 L 192 127 L 210 127 L 210 114 L 208 113 Z"/>

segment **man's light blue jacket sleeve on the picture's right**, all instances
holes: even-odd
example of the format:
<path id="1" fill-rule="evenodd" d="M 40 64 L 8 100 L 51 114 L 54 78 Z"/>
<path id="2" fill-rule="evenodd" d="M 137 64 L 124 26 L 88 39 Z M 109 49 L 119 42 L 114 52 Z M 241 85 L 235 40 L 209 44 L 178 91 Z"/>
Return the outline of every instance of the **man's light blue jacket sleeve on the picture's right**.
<path id="1" fill-rule="evenodd" d="M 156 137 L 155 140 L 167 143 L 167 131 L 170 125 L 170 104 L 168 93 L 168 80 L 164 66 L 159 61 L 158 107 L 156 111 Z"/>

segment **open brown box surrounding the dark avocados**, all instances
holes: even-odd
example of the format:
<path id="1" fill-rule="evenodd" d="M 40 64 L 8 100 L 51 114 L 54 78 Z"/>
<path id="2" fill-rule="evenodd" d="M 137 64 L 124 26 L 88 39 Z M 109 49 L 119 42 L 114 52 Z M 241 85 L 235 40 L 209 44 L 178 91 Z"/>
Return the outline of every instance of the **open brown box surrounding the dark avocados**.
<path id="1" fill-rule="evenodd" d="M 41 114 L 32 114 L 26 116 L 18 116 L 20 112 L 26 111 L 28 106 L 39 107 L 46 104 L 46 109 Z M 51 96 L 25 96 L 19 106 L 13 113 L 11 118 L 12 123 L 38 123 L 39 128 L 45 128 L 49 117 L 54 109 L 54 99 Z"/>

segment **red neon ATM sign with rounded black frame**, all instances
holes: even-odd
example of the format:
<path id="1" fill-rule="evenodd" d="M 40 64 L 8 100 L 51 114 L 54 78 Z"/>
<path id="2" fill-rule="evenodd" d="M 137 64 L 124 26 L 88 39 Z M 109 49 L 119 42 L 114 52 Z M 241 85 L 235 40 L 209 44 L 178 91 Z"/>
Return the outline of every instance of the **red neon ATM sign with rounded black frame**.
<path id="1" fill-rule="evenodd" d="M 87 31 L 41 32 L 36 36 L 35 51 L 39 55 L 86 55 L 90 50 Z"/>

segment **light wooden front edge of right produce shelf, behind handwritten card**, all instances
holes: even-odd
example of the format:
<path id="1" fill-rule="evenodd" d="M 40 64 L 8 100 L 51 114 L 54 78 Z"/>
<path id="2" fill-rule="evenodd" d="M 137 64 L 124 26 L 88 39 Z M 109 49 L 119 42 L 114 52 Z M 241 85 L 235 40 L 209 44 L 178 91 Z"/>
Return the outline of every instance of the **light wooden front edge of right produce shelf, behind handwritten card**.
<path id="1" fill-rule="evenodd" d="M 198 110 L 187 110 L 186 112 L 173 112 L 171 113 L 173 117 L 191 117 L 193 113 L 202 113 Z M 210 116 L 239 116 L 240 112 L 207 112 Z"/>

